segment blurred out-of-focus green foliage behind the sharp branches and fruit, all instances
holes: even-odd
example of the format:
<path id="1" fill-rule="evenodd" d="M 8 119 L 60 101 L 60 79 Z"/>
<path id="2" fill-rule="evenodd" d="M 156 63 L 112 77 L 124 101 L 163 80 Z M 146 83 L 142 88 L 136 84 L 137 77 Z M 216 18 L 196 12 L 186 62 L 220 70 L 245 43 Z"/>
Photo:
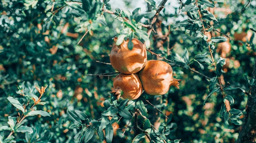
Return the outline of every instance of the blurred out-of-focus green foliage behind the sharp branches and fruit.
<path id="1" fill-rule="evenodd" d="M 115 0 L 110 2 L 114 3 Z M 120 9 L 130 8 L 129 4 L 133 2 L 135 0 L 126 1 L 128 5 Z M 187 18 L 186 12 L 174 7 L 177 2 L 172 4 L 173 1 L 167 1 L 165 9 L 160 13 L 162 32 L 168 34 L 163 49 L 153 46 L 156 42 L 153 35 L 150 37 L 150 49 L 172 59 L 172 53 L 181 55 L 186 48 L 190 60 L 193 60 L 195 55 L 207 52 L 208 49 L 202 46 L 200 39 L 194 40 L 185 28 L 174 27 Z M 141 6 L 147 6 L 146 2 L 143 4 Z M 172 13 L 167 9 L 171 9 Z M 213 52 L 216 59 L 220 56 L 227 58 L 222 84 L 224 87 L 232 85 L 249 91 L 244 75 L 251 78 L 255 64 L 255 31 L 250 28 L 256 28 L 256 2 L 225 0 L 209 11 L 218 20 L 218 23 L 212 23 L 214 28 L 232 38 L 227 43 L 223 42 L 230 47 L 216 43 Z M 24 82 L 25 87 L 35 95 L 38 93 L 34 84 L 44 87 L 48 85 L 41 98 L 46 104 L 38 108 L 47 111 L 51 117 L 28 117 L 26 124 L 33 128 L 38 142 L 75 142 L 73 138 L 78 130 L 69 128 L 71 123 L 67 110 L 82 111 L 90 119 L 101 118 L 101 113 L 105 111 L 103 101 L 110 98 L 108 92 L 112 90 L 115 76 L 85 75 L 115 72 L 108 64 L 108 54 L 113 44 L 112 38 L 118 36 L 121 22 L 114 15 L 104 13 L 104 23 L 84 26 L 83 19 L 74 16 L 70 7 L 61 0 L 1 0 L 0 13 L 0 126 L 7 125 L 8 116 L 17 116 L 17 111 L 7 97 L 21 97 L 16 93 L 18 85 Z M 87 30 L 88 34 L 79 43 Z M 211 36 L 223 36 L 220 32 L 212 31 Z M 155 58 L 155 55 L 148 53 L 148 59 Z M 201 69 L 194 62 L 190 67 L 209 78 L 214 77 L 215 72 L 209 64 L 204 64 L 205 68 Z M 171 140 L 181 139 L 186 143 L 233 143 L 238 137 L 239 126 L 227 126 L 220 119 L 222 95 L 213 93 L 204 105 L 204 99 L 209 93 L 209 80 L 180 66 L 174 65 L 173 71 L 175 78 L 182 79 L 180 90 L 171 87 L 166 95 L 145 95 L 171 121 L 145 103 L 151 123 L 155 126 L 165 123 L 173 129 L 168 136 Z M 227 91 L 227 94 L 235 99 L 232 108 L 245 111 L 247 95 L 239 90 Z M 112 142 L 132 141 L 134 132 L 129 128 L 121 137 L 127 123 L 128 119 L 122 119 L 116 124 L 120 129 L 114 129 Z M 138 124 L 143 124 L 143 120 L 139 118 Z M 4 131 L 5 136 L 8 134 Z M 14 136 L 17 142 L 25 139 L 25 133 L 15 133 Z M 91 142 L 99 143 L 101 140 L 94 135 Z"/>

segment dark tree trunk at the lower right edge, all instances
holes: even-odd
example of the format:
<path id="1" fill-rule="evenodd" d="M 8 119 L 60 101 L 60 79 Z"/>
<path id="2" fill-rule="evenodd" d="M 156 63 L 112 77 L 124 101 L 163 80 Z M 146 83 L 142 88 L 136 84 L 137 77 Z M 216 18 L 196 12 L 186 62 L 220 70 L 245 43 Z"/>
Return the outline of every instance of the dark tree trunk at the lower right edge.
<path id="1" fill-rule="evenodd" d="M 256 64 L 252 78 L 256 79 Z M 252 86 L 251 95 L 248 96 L 246 115 L 236 143 L 254 143 L 256 141 L 256 84 Z"/>

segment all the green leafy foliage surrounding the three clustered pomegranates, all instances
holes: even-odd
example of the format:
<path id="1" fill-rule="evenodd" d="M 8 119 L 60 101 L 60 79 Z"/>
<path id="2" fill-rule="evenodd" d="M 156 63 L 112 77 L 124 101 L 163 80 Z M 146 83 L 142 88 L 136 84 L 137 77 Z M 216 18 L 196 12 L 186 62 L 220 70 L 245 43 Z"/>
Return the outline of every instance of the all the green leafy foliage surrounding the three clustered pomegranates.
<path id="1" fill-rule="evenodd" d="M 116 1 L 1 1 L 0 143 L 239 140 L 256 103 L 256 2 L 144 0 L 141 12 Z M 143 41 L 180 89 L 117 100 L 114 37 Z"/>

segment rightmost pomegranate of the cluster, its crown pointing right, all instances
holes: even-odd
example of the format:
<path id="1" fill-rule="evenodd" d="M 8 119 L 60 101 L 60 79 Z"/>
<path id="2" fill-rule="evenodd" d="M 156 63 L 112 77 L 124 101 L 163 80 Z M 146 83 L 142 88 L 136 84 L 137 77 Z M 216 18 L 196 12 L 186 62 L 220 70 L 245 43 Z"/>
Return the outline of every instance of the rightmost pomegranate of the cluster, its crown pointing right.
<path id="1" fill-rule="evenodd" d="M 139 71 L 139 79 L 144 91 L 149 95 L 163 95 L 172 85 L 180 89 L 180 80 L 173 78 L 173 69 L 165 61 L 147 61 L 146 66 Z"/>

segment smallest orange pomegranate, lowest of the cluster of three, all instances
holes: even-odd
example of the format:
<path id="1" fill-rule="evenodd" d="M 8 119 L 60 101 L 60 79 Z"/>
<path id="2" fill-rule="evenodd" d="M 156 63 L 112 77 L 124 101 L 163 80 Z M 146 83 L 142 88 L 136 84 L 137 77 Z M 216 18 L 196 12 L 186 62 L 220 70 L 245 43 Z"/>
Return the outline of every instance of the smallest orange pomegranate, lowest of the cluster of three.
<path id="1" fill-rule="evenodd" d="M 111 91 L 124 99 L 135 100 L 141 95 L 143 88 L 138 74 L 119 74 L 113 81 L 114 90 Z"/>

